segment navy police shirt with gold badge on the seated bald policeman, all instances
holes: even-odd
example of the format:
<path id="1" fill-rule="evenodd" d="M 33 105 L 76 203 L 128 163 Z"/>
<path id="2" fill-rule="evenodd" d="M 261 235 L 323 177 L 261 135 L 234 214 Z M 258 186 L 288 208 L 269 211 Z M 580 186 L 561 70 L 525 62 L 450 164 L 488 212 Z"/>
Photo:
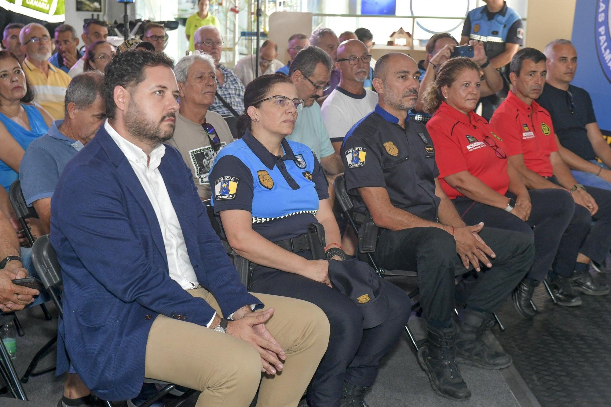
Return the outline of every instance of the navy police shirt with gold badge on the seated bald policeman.
<path id="1" fill-rule="evenodd" d="M 346 134 L 341 149 L 346 189 L 357 198 L 357 211 L 367 209 L 357 189 L 382 187 L 394 207 L 436 222 L 439 171 L 433 142 L 419 121 L 406 120 L 405 128 L 398 123 L 397 117 L 376 105 Z"/>

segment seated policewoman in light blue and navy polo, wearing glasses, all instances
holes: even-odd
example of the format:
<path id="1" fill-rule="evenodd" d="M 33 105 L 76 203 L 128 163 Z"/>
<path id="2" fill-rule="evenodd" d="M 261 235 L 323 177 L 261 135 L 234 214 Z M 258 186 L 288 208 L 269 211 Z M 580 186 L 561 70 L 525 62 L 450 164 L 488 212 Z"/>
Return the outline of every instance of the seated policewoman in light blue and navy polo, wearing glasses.
<path id="1" fill-rule="evenodd" d="M 329 318 L 329 346 L 307 390 L 308 404 L 362 406 L 411 308 L 403 290 L 384 280 L 375 299 L 363 295 L 358 304 L 337 289 L 337 270 L 368 266 L 346 260 L 338 244 L 339 228 L 315 154 L 285 139 L 302 104 L 283 74 L 260 76 L 246 87 L 243 137 L 214 160 L 212 203 L 230 245 L 256 264 L 249 290 L 309 301 Z M 324 229 L 324 245 L 312 228 Z M 321 256 L 316 257 L 315 247 Z M 375 323 L 360 308 L 370 300 L 387 304 Z"/>

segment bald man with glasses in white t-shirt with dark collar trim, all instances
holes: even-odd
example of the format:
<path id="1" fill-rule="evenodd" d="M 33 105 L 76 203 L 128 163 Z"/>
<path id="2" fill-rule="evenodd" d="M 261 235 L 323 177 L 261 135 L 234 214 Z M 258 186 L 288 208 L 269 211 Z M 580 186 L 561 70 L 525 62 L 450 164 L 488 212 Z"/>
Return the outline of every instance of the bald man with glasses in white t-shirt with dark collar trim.
<path id="1" fill-rule="evenodd" d="M 364 43 L 359 40 L 343 41 L 337 48 L 337 58 L 335 68 L 340 71 L 340 83 L 321 109 L 331 143 L 339 152 L 348 130 L 373 112 L 378 103 L 378 94 L 365 89 L 363 85 L 371 61 Z"/>

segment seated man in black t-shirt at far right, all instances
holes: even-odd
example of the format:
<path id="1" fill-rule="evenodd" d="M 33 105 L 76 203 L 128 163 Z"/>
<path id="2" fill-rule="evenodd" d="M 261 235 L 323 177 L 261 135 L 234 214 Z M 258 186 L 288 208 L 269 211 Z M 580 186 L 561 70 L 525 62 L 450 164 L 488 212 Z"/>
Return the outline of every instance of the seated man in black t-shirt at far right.
<path id="1" fill-rule="evenodd" d="M 554 40 L 543 53 L 547 57 L 547 77 L 537 102 L 552 117 L 560 156 L 577 182 L 611 190 L 611 148 L 596 123 L 590 94 L 571 85 L 577 70 L 577 51 L 569 40 Z"/>

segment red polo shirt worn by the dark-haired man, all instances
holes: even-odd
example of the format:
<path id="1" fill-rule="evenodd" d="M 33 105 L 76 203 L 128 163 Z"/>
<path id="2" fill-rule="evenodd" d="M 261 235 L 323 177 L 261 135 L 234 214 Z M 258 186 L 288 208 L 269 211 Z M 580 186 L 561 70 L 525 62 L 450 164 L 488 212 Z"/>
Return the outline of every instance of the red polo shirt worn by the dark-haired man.
<path id="1" fill-rule="evenodd" d="M 554 175 L 549 156 L 558 151 L 558 146 L 552 118 L 536 101 L 528 105 L 510 91 L 492 115 L 490 124 L 503 138 L 508 156 L 522 154 L 529 170 L 545 177 Z"/>

